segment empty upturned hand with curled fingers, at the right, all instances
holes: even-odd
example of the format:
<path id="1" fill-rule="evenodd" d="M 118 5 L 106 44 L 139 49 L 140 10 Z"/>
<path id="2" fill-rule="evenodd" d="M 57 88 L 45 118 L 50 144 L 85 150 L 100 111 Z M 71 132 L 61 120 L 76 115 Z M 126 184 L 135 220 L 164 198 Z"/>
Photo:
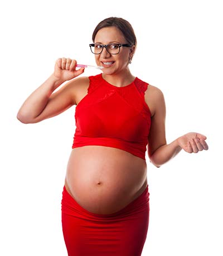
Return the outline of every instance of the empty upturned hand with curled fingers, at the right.
<path id="1" fill-rule="evenodd" d="M 196 132 L 187 133 L 177 139 L 179 146 L 188 153 L 197 153 L 209 149 L 205 139 L 207 137 Z"/>

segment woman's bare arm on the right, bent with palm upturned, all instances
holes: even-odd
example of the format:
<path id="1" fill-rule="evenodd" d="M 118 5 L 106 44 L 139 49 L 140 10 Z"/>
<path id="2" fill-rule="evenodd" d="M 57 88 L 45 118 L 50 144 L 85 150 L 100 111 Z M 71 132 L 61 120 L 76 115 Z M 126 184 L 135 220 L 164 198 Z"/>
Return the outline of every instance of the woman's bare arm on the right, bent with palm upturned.
<path id="1" fill-rule="evenodd" d="M 148 156 L 154 166 L 160 167 L 175 157 L 181 149 L 188 153 L 197 153 L 209 147 L 205 142 L 206 136 L 190 132 L 173 142 L 167 144 L 165 132 L 166 105 L 161 90 L 152 86 L 149 95 L 150 102 L 153 102 L 154 114 L 151 118 L 151 129 L 148 137 Z M 148 99 L 149 102 L 149 99 Z"/>

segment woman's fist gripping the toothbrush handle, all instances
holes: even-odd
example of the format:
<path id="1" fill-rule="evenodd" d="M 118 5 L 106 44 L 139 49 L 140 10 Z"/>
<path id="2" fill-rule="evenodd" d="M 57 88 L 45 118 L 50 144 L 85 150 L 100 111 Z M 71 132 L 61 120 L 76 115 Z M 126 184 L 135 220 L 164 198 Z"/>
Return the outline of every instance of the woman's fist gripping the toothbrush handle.
<path id="1" fill-rule="evenodd" d="M 76 78 L 76 76 L 84 73 L 84 67 L 76 70 L 76 64 L 76 60 L 65 57 L 59 58 L 56 60 L 53 75 L 62 82 Z"/>

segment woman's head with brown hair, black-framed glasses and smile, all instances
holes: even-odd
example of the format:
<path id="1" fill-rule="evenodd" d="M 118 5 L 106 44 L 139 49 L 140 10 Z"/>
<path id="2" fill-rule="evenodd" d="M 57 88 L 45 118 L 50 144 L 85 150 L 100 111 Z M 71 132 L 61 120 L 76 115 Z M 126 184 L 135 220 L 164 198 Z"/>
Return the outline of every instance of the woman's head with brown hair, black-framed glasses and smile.
<path id="1" fill-rule="evenodd" d="M 117 17 L 106 18 L 96 26 L 92 39 L 91 51 L 95 54 L 96 64 L 104 66 L 103 73 L 112 75 L 128 70 L 137 45 L 128 21 Z"/>

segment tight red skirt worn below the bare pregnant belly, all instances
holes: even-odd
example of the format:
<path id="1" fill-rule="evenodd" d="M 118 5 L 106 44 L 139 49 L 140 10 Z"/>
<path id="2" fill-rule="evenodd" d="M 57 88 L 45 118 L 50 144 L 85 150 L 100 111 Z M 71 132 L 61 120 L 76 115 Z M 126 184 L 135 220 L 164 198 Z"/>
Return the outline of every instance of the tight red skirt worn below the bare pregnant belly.
<path id="1" fill-rule="evenodd" d="M 94 214 L 81 207 L 64 186 L 62 231 L 69 256 L 140 256 L 149 225 L 146 190 L 114 214 Z"/>

